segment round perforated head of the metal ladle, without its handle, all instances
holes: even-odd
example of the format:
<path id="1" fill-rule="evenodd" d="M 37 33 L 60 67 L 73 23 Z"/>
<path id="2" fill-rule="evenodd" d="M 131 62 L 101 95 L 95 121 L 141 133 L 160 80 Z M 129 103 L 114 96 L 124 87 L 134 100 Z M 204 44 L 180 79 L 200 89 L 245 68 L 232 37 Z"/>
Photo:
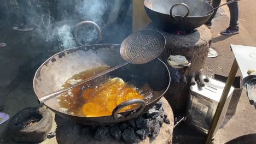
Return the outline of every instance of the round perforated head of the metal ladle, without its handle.
<path id="1" fill-rule="evenodd" d="M 145 29 L 125 38 L 120 53 L 126 62 L 143 64 L 157 58 L 164 49 L 164 35 L 158 31 Z"/>

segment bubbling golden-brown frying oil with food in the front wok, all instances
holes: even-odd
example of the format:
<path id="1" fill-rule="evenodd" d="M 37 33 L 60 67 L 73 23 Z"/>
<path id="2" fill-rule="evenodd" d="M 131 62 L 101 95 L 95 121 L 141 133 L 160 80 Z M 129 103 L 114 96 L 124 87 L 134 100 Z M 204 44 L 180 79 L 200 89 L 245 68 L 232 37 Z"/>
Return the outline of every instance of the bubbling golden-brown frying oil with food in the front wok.
<path id="1" fill-rule="evenodd" d="M 109 67 L 98 67 L 83 71 L 68 79 L 63 87 L 69 87 L 74 83 L 85 80 L 90 76 L 101 73 Z M 101 77 L 101 79 L 92 80 L 90 83 L 81 87 L 73 88 L 67 93 L 63 93 L 59 97 L 59 105 L 67 109 L 67 113 L 77 116 L 100 117 L 112 115 L 115 107 L 124 101 L 130 99 L 144 99 L 152 94 L 152 90 L 148 85 L 138 89 L 122 79 L 109 76 Z M 138 105 L 130 105 L 124 107 L 120 112 L 135 109 Z"/>

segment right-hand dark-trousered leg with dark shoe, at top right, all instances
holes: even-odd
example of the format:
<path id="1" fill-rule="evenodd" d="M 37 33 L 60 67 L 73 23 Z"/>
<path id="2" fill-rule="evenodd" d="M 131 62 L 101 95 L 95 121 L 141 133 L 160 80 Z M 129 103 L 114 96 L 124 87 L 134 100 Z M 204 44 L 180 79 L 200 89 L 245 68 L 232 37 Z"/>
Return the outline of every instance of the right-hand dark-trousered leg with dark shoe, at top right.
<path id="1" fill-rule="evenodd" d="M 231 0 L 227 0 L 229 2 Z M 238 3 L 234 2 L 231 4 L 228 4 L 229 11 L 230 11 L 230 23 L 229 27 L 221 32 L 221 34 L 238 34 L 239 33 L 239 27 L 238 27 Z"/>

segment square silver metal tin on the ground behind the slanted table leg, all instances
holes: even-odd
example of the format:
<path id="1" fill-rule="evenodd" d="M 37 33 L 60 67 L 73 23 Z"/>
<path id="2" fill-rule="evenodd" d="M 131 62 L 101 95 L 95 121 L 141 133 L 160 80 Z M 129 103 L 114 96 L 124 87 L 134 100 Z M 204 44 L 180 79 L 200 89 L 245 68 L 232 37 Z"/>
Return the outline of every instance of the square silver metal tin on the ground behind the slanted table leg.
<path id="1" fill-rule="evenodd" d="M 198 81 L 196 82 L 196 85 L 190 87 L 190 99 L 186 123 L 201 133 L 207 134 L 220 97 L 222 96 L 225 83 L 211 79 L 207 76 L 203 76 L 203 80 L 205 81 L 205 87 L 200 87 Z M 216 134 L 225 119 L 226 111 L 228 110 L 234 89 L 234 87 L 231 87 L 229 91 L 228 98 L 226 99 L 226 103 L 213 135 Z"/>

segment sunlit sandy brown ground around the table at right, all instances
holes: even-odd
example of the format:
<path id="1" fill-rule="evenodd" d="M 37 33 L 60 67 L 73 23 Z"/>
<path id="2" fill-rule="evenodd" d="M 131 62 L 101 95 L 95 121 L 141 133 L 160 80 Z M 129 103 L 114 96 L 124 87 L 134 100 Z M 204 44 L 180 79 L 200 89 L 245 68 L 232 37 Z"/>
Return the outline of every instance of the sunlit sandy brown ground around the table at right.
<path id="1" fill-rule="evenodd" d="M 223 0 L 223 3 L 226 0 Z M 234 55 L 230 50 L 230 44 L 256 46 L 256 1 L 254 0 L 241 0 L 239 2 L 240 10 L 240 34 L 227 36 L 220 35 L 219 32 L 229 26 L 229 9 L 222 7 L 228 17 L 218 17 L 213 21 L 212 32 L 212 47 L 215 49 L 219 56 L 216 58 L 208 58 L 205 69 L 205 74 L 211 76 L 219 74 L 227 76 L 234 61 Z M 238 71 L 237 76 L 241 75 Z M 229 119 L 230 118 L 230 119 Z M 256 111 L 254 106 L 249 104 L 248 98 L 245 93 L 241 95 L 240 101 L 237 106 L 236 115 L 228 117 L 229 121 L 222 129 L 219 129 L 215 137 L 216 143 L 225 143 L 238 136 L 255 134 L 256 133 Z M 228 120 L 226 119 L 226 120 Z"/>

